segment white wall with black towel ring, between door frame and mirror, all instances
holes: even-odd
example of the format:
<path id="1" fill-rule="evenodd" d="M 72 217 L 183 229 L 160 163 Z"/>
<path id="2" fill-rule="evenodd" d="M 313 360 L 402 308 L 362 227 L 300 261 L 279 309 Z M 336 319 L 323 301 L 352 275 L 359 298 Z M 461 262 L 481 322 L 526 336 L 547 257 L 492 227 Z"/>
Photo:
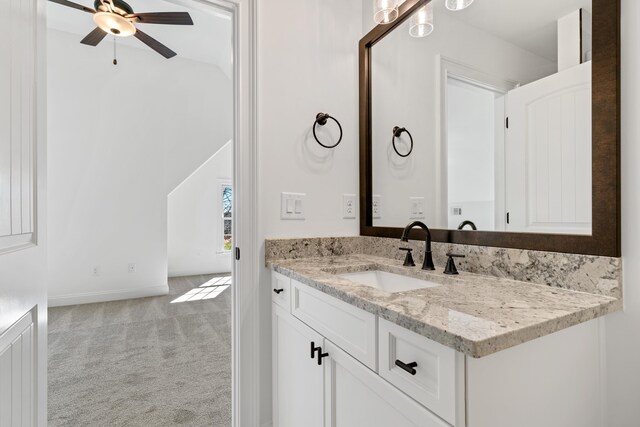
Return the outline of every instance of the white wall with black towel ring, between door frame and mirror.
<path id="1" fill-rule="evenodd" d="M 264 238 L 357 235 L 342 219 L 342 194 L 358 189 L 360 0 L 258 2 L 259 244 Z M 320 147 L 318 112 L 340 120 L 342 143 Z M 306 193 L 306 219 L 280 219 L 280 193 Z M 260 274 L 262 348 L 271 348 L 270 276 Z M 261 358 L 261 421 L 271 420 L 271 357 Z"/>

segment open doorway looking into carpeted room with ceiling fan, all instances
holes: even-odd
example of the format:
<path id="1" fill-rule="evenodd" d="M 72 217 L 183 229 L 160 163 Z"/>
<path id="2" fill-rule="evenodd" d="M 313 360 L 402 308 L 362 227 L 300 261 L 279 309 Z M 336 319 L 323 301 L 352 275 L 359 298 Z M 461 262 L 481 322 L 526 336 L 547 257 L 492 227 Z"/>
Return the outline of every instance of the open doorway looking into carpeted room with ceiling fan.
<path id="1" fill-rule="evenodd" d="M 50 13 L 49 276 L 51 305 L 64 306 L 50 316 L 51 425 L 145 414 L 167 424 L 209 419 L 230 425 L 235 275 L 229 238 L 238 212 L 233 205 L 226 212 L 205 209 L 200 203 L 208 193 L 198 193 L 197 181 L 224 157 L 227 171 L 213 168 L 207 180 L 210 203 L 217 209 L 225 189 L 241 189 L 231 187 L 242 173 L 230 142 L 240 120 L 232 60 L 237 10 L 195 1 L 132 3 L 192 15 L 193 28 L 147 30 L 177 57 L 165 59 L 131 38 L 116 41 L 114 65 L 112 39 L 80 45 L 84 29 L 74 28 L 84 22 L 81 11 L 67 8 L 70 15 L 59 19 Z M 48 6 L 54 7 L 61 6 Z M 226 33 L 199 32 L 214 27 L 208 20 L 226 23 Z M 228 46 L 206 44 L 219 38 Z M 197 44 L 204 46 L 201 56 Z M 90 105 L 99 107 L 91 111 Z M 174 212 L 183 224 L 203 225 L 198 215 L 212 218 L 207 239 L 224 267 L 189 272 L 194 265 L 183 265 L 167 283 L 168 194 L 191 201 L 182 207 L 196 214 Z M 200 243 L 190 244 L 198 249 Z M 94 386 L 111 392 L 73 399 Z M 83 404 L 68 405 L 68 398 Z"/>

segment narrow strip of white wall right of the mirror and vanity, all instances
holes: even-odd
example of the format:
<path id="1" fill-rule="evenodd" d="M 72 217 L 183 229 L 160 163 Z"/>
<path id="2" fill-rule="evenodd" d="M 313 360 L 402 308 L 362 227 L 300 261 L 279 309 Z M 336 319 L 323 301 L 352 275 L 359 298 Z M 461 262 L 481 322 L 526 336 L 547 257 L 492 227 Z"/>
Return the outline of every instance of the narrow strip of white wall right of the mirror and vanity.
<path id="1" fill-rule="evenodd" d="M 640 422 L 640 27 L 637 25 L 640 2 L 622 0 L 621 6 L 622 256 L 626 308 L 624 313 L 605 318 L 607 419 L 604 425 L 635 427 Z"/>

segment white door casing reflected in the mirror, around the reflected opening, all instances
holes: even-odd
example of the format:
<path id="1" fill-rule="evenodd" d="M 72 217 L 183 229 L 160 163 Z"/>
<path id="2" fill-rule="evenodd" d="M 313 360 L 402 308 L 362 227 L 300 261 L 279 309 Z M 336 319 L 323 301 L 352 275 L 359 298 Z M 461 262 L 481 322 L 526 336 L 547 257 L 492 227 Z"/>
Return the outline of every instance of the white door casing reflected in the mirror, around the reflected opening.
<path id="1" fill-rule="evenodd" d="M 447 80 L 458 80 L 506 94 L 520 86 L 515 80 L 496 77 L 473 66 L 438 55 L 436 58 L 436 224 L 448 224 L 447 196 Z M 445 227 L 446 228 L 446 227 Z"/>

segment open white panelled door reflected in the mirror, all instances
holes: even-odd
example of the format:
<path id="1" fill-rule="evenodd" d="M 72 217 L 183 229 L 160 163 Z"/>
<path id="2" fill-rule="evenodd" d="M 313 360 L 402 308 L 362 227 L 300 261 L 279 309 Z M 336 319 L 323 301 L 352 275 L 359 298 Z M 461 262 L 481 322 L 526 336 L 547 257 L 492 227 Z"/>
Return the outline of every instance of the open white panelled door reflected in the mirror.
<path id="1" fill-rule="evenodd" d="M 510 91 L 508 231 L 591 233 L 591 62 Z"/>

